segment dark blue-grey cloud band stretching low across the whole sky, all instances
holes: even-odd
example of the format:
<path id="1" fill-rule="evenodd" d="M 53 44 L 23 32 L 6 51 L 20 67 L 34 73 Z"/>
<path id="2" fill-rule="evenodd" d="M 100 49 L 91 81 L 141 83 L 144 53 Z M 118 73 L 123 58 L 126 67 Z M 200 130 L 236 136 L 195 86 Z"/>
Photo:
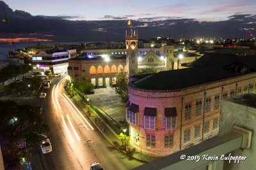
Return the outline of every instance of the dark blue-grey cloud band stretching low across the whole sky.
<path id="1" fill-rule="evenodd" d="M 53 41 L 124 40 L 125 30 L 129 29 L 127 20 L 135 17 L 106 15 L 102 20 L 72 20 L 76 17 L 32 16 L 26 11 L 13 11 L 6 4 L 4 9 L 13 37 L 47 38 Z M 4 18 L 2 9 L 0 17 Z M 256 15 L 236 14 L 218 22 L 198 22 L 194 18 L 181 17 L 147 17 L 132 20 L 132 27 L 138 29 L 141 39 L 167 37 L 169 34 L 175 39 L 180 38 L 180 34 L 185 38 L 248 38 L 248 31 L 243 28 L 250 27 L 255 32 Z M 9 32 L 7 23 L 1 22 L 0 38 L 10 38 Z"/>

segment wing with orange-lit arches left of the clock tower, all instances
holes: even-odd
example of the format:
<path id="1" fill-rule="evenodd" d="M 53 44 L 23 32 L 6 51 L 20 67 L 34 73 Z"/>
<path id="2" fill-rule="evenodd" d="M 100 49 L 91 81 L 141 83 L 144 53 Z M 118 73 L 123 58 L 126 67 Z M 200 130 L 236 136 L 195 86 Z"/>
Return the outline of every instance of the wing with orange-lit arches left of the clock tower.
<path id="1" fill-rule="evenodd" d="M 126 56 L 82 57 L 68 60 L 68 75 L 72 81 L 89 80 L 96 87 L 116 84 L 116 73 L 127 73 Z"/>

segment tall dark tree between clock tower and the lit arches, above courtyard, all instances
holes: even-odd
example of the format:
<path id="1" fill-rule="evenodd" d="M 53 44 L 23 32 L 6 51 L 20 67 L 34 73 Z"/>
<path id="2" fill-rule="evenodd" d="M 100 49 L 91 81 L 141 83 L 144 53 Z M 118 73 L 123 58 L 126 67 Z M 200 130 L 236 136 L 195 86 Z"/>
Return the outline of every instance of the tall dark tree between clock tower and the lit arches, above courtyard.
<path id="1" fill-rule="evenodd" d="M 116 85 L 121 90 L 122 101 L 127 102 L 129 99 L 128 82 L 123 69 L 116 73 Z"/>

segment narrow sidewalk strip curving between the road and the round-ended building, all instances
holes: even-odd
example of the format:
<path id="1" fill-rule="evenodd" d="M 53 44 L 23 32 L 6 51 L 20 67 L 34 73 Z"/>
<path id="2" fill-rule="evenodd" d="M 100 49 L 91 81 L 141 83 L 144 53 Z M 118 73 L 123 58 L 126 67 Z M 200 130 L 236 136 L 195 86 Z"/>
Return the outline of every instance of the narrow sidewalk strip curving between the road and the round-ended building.
<path id="1" fill-rule="evenodd" d="M 82 110 L 84 110 L 85 103 L 83 103 L 81 97 L 75 95 L 73 97 L 73 99 L 76 102 L 76 104 L 78 106 L 80 106 L 82 108 Z M 84 111 L 87 111 L 87 108 Z M 113 146 L 113 148 L 115 148 L 119 152 L 123 153 L 124 155 L 127 155 L 127 157 L 130 157 L 131 159 L 135 159 L 135 160 L 138 160 L 143 163 L 151 162 L 152 160 L 155 160 L 158 158 L 158 157 L 152 157 L 149 155 L 145 155 L 145 154 L 139 152 L 134 147 L 132 147 L 132 145 L 129 145 L 129 141 L 127 141 L 127 143 L 126 143 L 126 148 L 127 148 L 127 150 L 129 148 L 130 153 L 125 152 L 124 150 L 120 150 L 121 148 L 124 149 L 124 145 L 122 147 L 121 138 L 118 138 L 118 136 L 111 129 L 111 127 L 109 127 L 109 125 L 106 124 L 106 122 L 104 122 L 104 120 L 102 120 L 99 117 L 99 115 L 97 115 L 97 113 L 95 113 L 94 110 L 92 110 L 92 108 L 90 108 L 90 115 L 86 114 L 86 117 L 90 118 L 91 122 L 95 125 L 95 127 L 97 127 L 97 129 L 101 132 L 102 136 L 104 136 L 104 138 L 106 138 L 108 140 L 108 142 Z M 124 140 L 123 140 L 123 144 L 124 144 Z"/>

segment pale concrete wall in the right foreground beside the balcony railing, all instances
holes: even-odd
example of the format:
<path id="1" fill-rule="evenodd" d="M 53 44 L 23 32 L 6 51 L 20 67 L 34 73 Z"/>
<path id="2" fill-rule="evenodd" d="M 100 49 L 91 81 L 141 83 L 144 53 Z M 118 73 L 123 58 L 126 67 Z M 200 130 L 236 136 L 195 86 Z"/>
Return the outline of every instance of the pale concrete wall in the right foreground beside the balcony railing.
<path id="1" fill-rule="evenodd" d="M 256 94 L 244 94 L 221 102 L 220 135 L 232 130 L 233 125 L 238 125 L 253 131 L 252 147 L 239 149 L 232 152 L 232 155 L 247 157 L 239 164 L 224 163 L 224 169 L 255 169 L 256 160 Z"/>

